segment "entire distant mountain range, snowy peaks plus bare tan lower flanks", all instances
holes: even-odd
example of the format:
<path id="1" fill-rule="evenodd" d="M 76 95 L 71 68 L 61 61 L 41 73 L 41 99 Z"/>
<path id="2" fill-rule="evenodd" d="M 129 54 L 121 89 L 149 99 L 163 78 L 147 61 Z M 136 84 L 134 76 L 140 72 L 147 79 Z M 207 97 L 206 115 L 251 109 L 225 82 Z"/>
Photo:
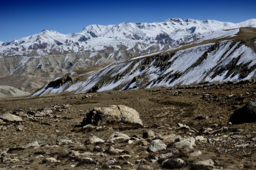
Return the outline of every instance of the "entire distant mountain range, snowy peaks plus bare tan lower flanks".
<path id="1" fill-rule="evenodd" d="M 31 92 L 77 70 L 175 49 L 184 43 L 236 36 L 236 28 L 241 27 L 256 27 L 256 19 L 226 23 L 170 18 L 161 23 L 91 25 L 74 34 L 43 30 L 0 43 L 0 85 L 11 83 Z"/>

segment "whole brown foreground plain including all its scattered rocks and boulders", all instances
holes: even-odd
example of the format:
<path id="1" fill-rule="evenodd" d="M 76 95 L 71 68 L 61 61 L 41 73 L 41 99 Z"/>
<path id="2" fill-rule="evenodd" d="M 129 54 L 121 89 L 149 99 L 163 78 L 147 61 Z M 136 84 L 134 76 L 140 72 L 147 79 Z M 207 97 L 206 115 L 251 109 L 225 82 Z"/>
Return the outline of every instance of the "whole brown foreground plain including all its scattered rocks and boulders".
<path id="1" fill-rule="evenodd" d="M 0 169 L 255 169 L 256 83 L 0 101 Z"/>

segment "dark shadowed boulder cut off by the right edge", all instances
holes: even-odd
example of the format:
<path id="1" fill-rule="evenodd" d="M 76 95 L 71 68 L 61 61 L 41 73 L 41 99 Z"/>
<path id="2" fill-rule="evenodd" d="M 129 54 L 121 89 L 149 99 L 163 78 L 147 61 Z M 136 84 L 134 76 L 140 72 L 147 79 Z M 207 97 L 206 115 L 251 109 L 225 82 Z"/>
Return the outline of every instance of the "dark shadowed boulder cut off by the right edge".
<path id="1" fill-rule="evenodd" d="M 230 116 L 229 121 L 233 124 L 256 122 L 256 102 L 251 102 L 240 109 L 236 109 Z"/>

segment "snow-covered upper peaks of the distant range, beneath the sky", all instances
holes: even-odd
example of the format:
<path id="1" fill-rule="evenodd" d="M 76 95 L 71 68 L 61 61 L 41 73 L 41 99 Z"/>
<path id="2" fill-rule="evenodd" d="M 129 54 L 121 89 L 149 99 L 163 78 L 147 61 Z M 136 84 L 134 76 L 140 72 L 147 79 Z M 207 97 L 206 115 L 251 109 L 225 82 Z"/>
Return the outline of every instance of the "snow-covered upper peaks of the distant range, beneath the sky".
<path id="1" fill-rule="evenodd" d="M 91 25 L 74 34 L 61 34 L 44 30 L 10 42 L 2 42 L 0 56 L 36 56 L 89 51 L 97 55 L 99 50 L 132 50 L 152 53 L 164 45 L 172 47 L 183 42 L 201 38 L 212 31 L 230 28 L 256 27 L 256 19 L 242 23 L 227 23 L 217 20 L 192 20 L 170 18 L 161 23 L 120 23 L 118 25 Z M 120 54 L 119 54 L 120 55 Z M 111 56 L 110 56 L 111 57 Z M 118 58 L 118 56 L 116 56 Z"/>

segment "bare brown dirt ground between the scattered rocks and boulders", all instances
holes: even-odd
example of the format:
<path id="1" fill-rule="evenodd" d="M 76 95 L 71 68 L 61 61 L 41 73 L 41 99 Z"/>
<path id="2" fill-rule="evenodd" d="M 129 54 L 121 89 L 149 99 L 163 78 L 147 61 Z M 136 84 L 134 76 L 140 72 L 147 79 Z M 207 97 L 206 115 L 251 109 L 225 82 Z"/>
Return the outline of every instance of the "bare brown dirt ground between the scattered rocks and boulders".
<path id="1" fill-rule="evenodd" d="M 255 169 L 256 162 L 256 142 L 250 141 L 256 136 L 256 123 L 244 123 L 240 125 L 227 125 L 228 119 L 233 111 L 244 106 L 246 102 L 255 101 L 256 84 L 225 84 L 225 85 L 197 85 L 187 88 L 155 88 L 148 90 L 125 90 L 101 93 L 89 93 L 91 97 L 83 98 L 86 94 L 79 95 L 60 95 L 45 96 L 37 98 L 6 98 L 0 101 L 0 112 L 15 112 L 16 114 L 29 110 L 43 109 L 53 107 L 59 104 L 67 105 L 64 109 L 55 109 L 54 115 L 60 115 L 60 118 L 54 117 L 34 117 L 33 119 L 23 116 L 23 131 L 16 131 L 17 123 L 7 123 L 1 125 L 0 129 L 7 126 L 7 129 L 0 131 L 0 154 L 7 151 L 7 158 L 18 158 L 18 162 L 1 163 L 0 168 L 4 169 L 102 169 L 102 165 L 110 158 L 116 158 L 116 165 L 122 169 L 130 169 L 131 166 L 125 164 L 129 161 L 133 164 L 133 169 L 138 169 L 135 161 L 146 158 L 146 165 L 154 169 L 164 169 L 159 163 L 148 161 L 150 156 L 157 153 L 146 152 L 147 147 L 140 146 L 139 142 L 127 144 L 127 142 L 116 142 L 113 144 L 118 149 L 125 150 L 132 156 L 125 161 L 119 160 L 118 155 L 99 155 L 83 156 L 90 157 L 99 162 L 99 166 L 85 163 L 78 158 L 72 158 L 68 155 L 71 150 L 77 150 L 80 153 L 93 152 L 94 145 L 84 145 L 85 140 L 95 135 L 101 139 L 108 139 L 108 136 L 115 131 L 127 134 L 129 136 L 142 136 L 143 131 L 151 129 L 155 134 L 165 136 L 167 134 L 176 134 L 185 136 L 197 136 L 197 133 L 187 129 L 177 129 L 177 123 L 189 125 L 190 128 L 200 131 L 201 128 L 212 128 L 217 130 L 223 126 L 229 128 L 226 132 L 217 134 L 208 134 L 203 136 L 208 139 L 207 142 L 196 142 L 197 147 L 193 150 L 184 150 L 184 155 L 189 152 L 200 150 L 202 155 L 196 157 L 184 158 L 188 161 L 200 161 L 212 159 L 215 166 L 223 169 Z M 207 95 L 204 95 L 207 94 Z M 233 94 L 233 96 L 230 96 Z M 143 120 L 143 128 L 132 128 L 124 124 L 106 125 L 105 128 L 81 131 L 79 125 L 86 112 L 94 107 L 107 107 L 112 104 L 124 104 L 138 110 Z M 20 114 L 21 115 L 21 114 Z M 197 116 L 208 116 L 208 119 L 195 120 Z M 159 127 L 155 127 L 157 123 Z M 232 135 L 243 135 L 244 139 L 232 139 Z M 224 135 L 227 135 L 226 137 Z M 56 139 L 70 139 L 74 144 L 54 147 Z M 219 141 L 218 141 L 219 139 Z M 39 148 L 26 148 L 27 144 L 40 141 L 45 146 Z M 211 142 L 209 142 L 211 141 Z M 149 141 L 150 142 L 150 141 Z M 165 142 L 168 145 L 166 151 L 171 150 L 172 143 Z M 249 144 L 246 147 L 237 147 L 236 144 Z M 104 150 L 108 149 L 108 144 L 100 144 Z M 11 149 L 10 149 L 11 148 Z M 95 153 L 95 152 L 94 152 Z M 43 163 L 43 158 L 37 158 L 43 155 L 43 158 L 54 157 L 61 163 Z M 180 154 L 182 155 L 182 154 Z M 182 158 L 184 157 L 182 156 Z M 185 156 L 187 157 L 187 156 Z M 1 155 L 4 158 L 4 155 Z M 78 165 L 71 168 L 71 165 Z M 188 168 L 184 168 L 188 169 Z"/>

